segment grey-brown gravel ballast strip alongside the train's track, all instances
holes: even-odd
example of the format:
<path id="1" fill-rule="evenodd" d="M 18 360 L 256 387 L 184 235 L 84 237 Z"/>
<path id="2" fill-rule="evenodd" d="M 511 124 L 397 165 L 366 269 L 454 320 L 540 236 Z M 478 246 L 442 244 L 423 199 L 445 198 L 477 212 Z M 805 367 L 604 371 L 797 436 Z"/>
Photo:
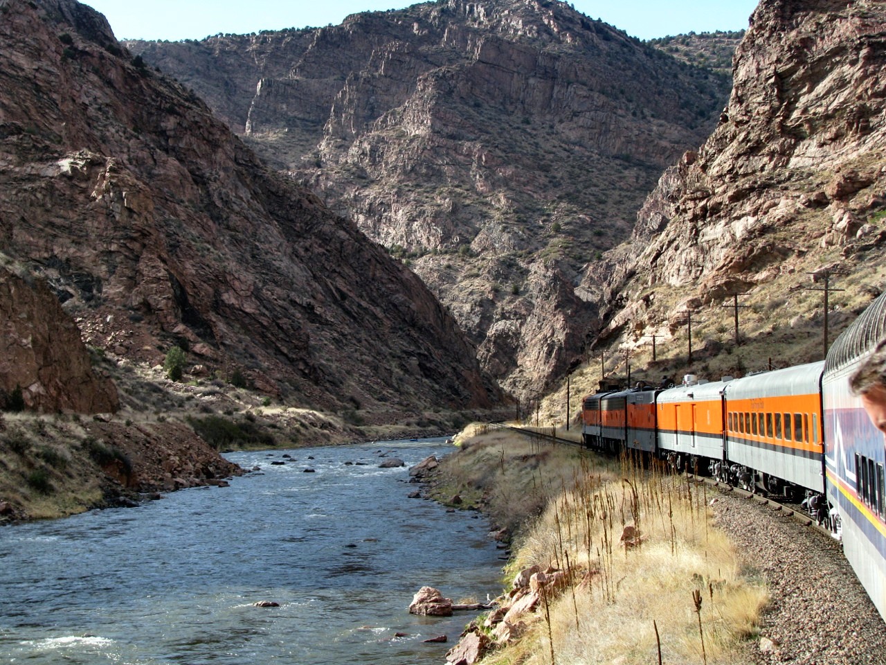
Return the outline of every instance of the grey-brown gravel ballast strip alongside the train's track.
<path id="1" fill-rule="evenodd" d="M 769 585 L 755 665 L 886 665 L 886 622 L 861 587 L 840 544 L 784 512 L 722 492 L 720 528 Z"/>

